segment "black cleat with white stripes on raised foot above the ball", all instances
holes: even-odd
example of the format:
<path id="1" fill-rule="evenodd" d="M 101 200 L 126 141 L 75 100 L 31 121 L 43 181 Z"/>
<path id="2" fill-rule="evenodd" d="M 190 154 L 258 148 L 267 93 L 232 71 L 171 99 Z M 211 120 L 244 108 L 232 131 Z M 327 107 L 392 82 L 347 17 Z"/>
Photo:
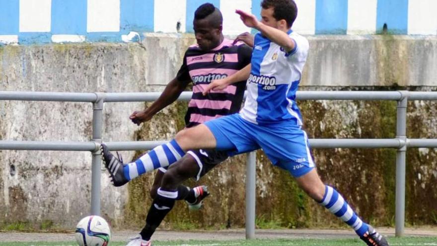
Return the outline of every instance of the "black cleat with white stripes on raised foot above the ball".
<path id="1" fill-rule="evenodd" d="M 117 157 L 109 152 L 108 147 L 105 144 L 100 145 L 100 150 L 102 152 L 102 160 L 105 163 L 105 167 L 111 176 L 112 184 L 116 187 L 122 186 L 129 182 L 129 180 L 125 177 L 123 171 L 123 159 L 117 153 Z"/>

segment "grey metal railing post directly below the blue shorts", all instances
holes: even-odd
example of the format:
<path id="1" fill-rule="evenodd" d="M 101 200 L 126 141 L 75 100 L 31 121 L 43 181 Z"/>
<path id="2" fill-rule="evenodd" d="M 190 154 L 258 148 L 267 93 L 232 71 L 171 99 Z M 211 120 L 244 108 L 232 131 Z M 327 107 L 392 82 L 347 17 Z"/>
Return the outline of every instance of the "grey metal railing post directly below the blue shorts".
<path id="1" fill-rule="evenodd" d="M 246 165 L 246 239 L 255 237 L 256 152 L 247 154 Z"/>

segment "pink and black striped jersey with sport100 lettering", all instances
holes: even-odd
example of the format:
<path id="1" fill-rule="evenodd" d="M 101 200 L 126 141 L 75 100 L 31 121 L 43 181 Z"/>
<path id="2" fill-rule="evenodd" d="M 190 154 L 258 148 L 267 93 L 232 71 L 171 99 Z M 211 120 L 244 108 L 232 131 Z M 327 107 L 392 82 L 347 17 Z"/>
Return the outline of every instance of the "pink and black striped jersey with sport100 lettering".
<path id="1" fill-rule="evenodd" d="M 250 64 L 251 56 L 252 48 L 242 43 L 232 45 L 229 39 L 210 51 L 202 51 L 197 45 L 188 48 L 176 77 L 181 82 L 193 82 L 193 96 L 185 115 L 187 127 L 239 111 L 246 81 L 210 91 L 206 96 L 202 92 L 211 81 L 230 76 Z"/>

